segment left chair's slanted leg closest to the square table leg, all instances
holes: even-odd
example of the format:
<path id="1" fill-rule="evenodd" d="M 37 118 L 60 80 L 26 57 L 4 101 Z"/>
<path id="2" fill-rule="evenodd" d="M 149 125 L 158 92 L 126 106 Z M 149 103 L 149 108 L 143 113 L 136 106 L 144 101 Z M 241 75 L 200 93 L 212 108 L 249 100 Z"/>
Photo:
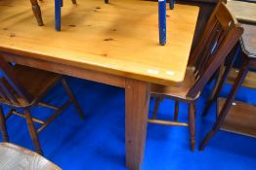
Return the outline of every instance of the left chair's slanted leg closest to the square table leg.
<path id="1" fill-rule="evenodd" d="M 64 80 L 64 78 L 62 78 L 62 84 L 64 85 L 64 89 L 65 89 L 67 95 L 69 96 L 70 100 L 74 104 L 75 109 L 77 110 L 78 115 L 80 116 L 81 119 L 84 119 L 85 118 L 84 113 L 83 113 L 82 109 L 80 108 L 80 106 L 78 104 L 78 101 L 74 97 L 74 93 L 72 92 L 72 90 L 69 87 L 69 85 L 67 85 L 67 83 Z"/>

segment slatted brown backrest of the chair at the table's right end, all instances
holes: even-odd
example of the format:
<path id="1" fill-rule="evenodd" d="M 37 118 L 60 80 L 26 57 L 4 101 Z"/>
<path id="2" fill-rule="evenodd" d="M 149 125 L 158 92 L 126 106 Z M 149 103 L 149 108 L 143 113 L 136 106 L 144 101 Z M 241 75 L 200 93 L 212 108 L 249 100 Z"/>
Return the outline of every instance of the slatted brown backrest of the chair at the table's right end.
<path id="1" fill-rule="evenodd" d="M 209 18 L 204 33 L 192 53 L 195 84 L 188 92 L 188 97 L 195 97 L 212 75 L 225 61 L 228 53 L 235 47 L 243 28 L 232 16 L 223 2 L 218 3 Z"/>

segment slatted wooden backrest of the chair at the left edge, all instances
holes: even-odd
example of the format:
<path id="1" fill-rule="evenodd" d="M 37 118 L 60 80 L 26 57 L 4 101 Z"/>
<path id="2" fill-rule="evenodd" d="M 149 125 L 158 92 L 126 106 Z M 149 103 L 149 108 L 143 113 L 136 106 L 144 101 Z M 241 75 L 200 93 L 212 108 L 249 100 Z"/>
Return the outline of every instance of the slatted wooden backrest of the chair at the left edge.
<path id="1" fill-rule="evenodd" d="M 15 75 L 13 66 L 6 62 L 2 55 L 0 55 L 0 73 L 2 75 L 0 78 L 0 103 L 21 106 L 21 102 L 28 104 L 32 100 L 32 96 Z"/>

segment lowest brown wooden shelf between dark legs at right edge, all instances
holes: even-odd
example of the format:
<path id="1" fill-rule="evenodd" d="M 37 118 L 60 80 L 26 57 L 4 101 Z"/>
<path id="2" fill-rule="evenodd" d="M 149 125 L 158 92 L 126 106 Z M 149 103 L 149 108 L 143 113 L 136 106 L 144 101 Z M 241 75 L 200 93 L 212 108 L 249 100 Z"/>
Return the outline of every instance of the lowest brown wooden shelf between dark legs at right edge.
<path id="1" fill-rule="evenodd" d="M 226 99 L 218 99 L 218 111 L 221 111 Z M 219 115 L 219 112 L 218 112 Z M 234 101 L 229 115 L 224 120 L 221 129 L 256 137 L 256 107 L 248 103 Z"/>

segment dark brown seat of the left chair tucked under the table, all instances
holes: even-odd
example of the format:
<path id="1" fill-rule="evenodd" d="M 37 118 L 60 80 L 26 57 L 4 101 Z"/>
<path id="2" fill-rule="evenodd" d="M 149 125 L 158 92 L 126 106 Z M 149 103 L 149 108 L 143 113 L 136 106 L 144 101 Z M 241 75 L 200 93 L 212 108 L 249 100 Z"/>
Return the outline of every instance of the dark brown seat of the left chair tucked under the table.
<path id="1" fill-rule="evenodd" d="M 48 90 L 56 85 L 62 78 L 62 75 L 60 74 L 21 66 L 18 64 L 13 68 L 16 77 L 21 82 L 21 85 L 23 85 L 27 92 L 32 95 L 34 100 L 31 103 L 34 103 L 37 99 L 40 99 L 43 95 L 45 95 Z M 0 79 L 0 82 L 6 86 L 10 86 L 6 84 L 6 80 L 4 79 Z M 12 89 L 13 88 L 10 87 L 10 90 Z M 16 98 L 21 105 L 27 105 L 20 96 L 17 95 Z"/>

